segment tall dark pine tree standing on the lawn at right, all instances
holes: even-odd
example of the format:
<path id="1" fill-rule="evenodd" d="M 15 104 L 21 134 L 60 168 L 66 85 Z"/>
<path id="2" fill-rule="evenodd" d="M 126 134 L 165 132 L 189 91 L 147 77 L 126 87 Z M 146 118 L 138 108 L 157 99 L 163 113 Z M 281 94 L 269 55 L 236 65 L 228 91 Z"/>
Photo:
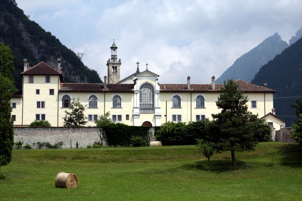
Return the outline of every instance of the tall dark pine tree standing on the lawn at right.
<path id="1" fill-rule="evenodd" d="M 253 137 L 255 126 L 248 111 L 247 96 L 238 90 L 235 81 L 224 82 L 222 93 L 216 101 L 218 114 L 212 114 L 214 121 L 210 124 L 214 148 L 217 151 L 231 151 L 233 166 L 236 166 L 235 151 L 253 150 L 258 143 Z"/>

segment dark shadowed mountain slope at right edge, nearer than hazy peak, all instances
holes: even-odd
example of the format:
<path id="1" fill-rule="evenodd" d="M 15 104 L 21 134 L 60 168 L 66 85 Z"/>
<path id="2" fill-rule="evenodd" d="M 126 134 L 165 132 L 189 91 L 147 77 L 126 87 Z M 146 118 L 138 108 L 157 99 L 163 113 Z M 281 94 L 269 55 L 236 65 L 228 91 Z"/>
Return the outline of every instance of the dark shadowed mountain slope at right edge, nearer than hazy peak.
<path id="1" fill-rule="evenodd" d="M 295 110 L 290 106 L 295 103 L 295 98 L 302 96 L 302 39 L 297 40 L 280 55 L 262 66 L 252 80 L 253 84 L 268 84 L 268 88 L 277 92 L 274 94 L 274 107 L 276 115 L 286 121 L 286 126 L 291 126 L 297 117 Z M 301 99 L 301 97 L 299 97 Z"/>

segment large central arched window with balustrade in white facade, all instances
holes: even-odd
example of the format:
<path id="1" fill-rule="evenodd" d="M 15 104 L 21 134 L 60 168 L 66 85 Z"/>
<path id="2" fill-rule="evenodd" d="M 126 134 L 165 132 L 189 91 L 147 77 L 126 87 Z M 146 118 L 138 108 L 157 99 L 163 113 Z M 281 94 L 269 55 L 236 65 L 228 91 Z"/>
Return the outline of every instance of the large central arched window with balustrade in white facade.
<path id="1" fill-rule="evenodd" d="M 140 108 L 153 108 L 141 112 L 154 112 L 154 88 L 151 84 L 145 83 L 140 87 Z"/>

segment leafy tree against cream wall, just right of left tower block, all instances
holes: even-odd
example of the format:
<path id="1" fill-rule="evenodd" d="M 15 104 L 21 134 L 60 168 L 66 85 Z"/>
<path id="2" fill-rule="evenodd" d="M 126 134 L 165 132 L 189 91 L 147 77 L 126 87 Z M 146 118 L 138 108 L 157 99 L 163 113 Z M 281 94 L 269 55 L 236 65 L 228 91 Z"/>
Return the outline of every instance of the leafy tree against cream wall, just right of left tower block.
<path id="1" fill-rule="evenodd" d="M 64 126 L 72 127 L 72 126 L 83 126 L 87 123 L 84 115 L 85 107 L 87 105 L 83 105 L 80 102 L 80 99 L 72 99 L 72 102 L 70 103 L 70 109 L 71 111 L 64 111 L 66 113 L 66 117 L 63 117 L 64 120 Z"/>

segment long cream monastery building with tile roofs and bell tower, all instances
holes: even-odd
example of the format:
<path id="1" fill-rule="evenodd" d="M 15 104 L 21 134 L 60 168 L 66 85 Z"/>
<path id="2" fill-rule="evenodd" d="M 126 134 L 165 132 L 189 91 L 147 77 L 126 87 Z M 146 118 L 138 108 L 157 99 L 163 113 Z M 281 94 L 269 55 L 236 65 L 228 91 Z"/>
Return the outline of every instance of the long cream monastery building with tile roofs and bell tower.
<path id="1" fill-rule="evenodd" d="M 111 46 L 107 61 L 108 77 L 104 83 L 64 83 L 61 59 L 57 70 L 40 62 L 32 68 L 24 59 L 22 91 L 13 93 L 12 118 L 15 125 L 29 125 L 34 120 L 48 120 L 52 126 L 63 126 L 64 111 L 72 99 L 86 105 L 86 126 L 95 126 L 99 115 L 110 112 L 113 121 L 127 125 L 159 126 L 167 121 L 199 121 L 219 113 L 216 101 L 223 84 L 161 84 L 159 75 L 146 68 L 120 80 L 121 61 L 117 46 Z M 271 112 L 275 90 L 236 80 L 239 90 L 247 95 L 249 111 L 260 117 Z"/>

